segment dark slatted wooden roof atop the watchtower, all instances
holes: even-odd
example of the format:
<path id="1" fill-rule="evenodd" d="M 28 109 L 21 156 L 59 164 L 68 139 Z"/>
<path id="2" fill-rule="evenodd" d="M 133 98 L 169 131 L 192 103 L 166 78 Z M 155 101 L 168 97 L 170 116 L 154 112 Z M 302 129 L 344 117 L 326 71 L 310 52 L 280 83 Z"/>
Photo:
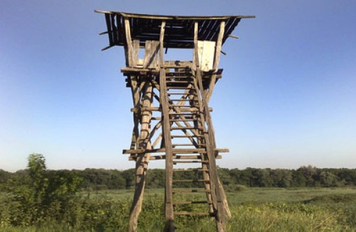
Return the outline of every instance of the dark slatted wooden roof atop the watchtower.
<path id="1" fill-rule="evenodd" d="M 199 23 L 198 40 L 216 41 L 220 22 L 225 21 L 224 43 L 240 23 L 241 18 L 255 18 L 255 16 L 166 16 L 101 10 L 95 10 L 95 12 L 105 14 L 107 31 L 101 34 L 107 33 L 110 46 L 125 44 L 124 18 L 129 20 L 131 39 L 140 40 L 141 46 L 146 40 L 160 40 L 161 23 L 163 20 L 166 21 L 165 48 L 193 48 L 194 22 Z"/>

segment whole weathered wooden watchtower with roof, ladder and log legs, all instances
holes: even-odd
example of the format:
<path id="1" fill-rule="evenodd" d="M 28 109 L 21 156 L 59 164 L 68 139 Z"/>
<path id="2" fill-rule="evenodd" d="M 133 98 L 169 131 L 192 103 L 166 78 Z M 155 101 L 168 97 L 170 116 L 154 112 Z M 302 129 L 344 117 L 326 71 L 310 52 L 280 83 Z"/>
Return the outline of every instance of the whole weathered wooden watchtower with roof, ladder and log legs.
<path id="1" fill-rule="evenodd" d="M 129 160 L 136 162 L 136 188 L 129 229 L 136 231 L 150 160 L 165 160 L 165 231 L 174 231 L 181 216 L 212 216 L 217 231 L 226 231 L 229 211 L 218 180 L 209 99 L 216 81 L 221 46 L 241 18 L 254 16 L 162 16 L 96 11 L 105 14 L 110 45 L 125 48 L 127 87 L 133 98 L 133 132 Z M 164 59 L 167 50 L 191 50 L 188 60 Z M 170 52 L 170 51 L 169 51 Z M 174 53 L 173 53 L 174 54 Z M 185 177 L 185 179 L 182 179 Z M 190 179 L 187 179 L 190 177 Z M 194 194 L 202 194 L 192 197 Z M 188 198 L 184 197 L 188 194 Z M 185 207 L 206 205 L 202 207 Z M 194 211 L 181 211 L 192 208 Z"/>

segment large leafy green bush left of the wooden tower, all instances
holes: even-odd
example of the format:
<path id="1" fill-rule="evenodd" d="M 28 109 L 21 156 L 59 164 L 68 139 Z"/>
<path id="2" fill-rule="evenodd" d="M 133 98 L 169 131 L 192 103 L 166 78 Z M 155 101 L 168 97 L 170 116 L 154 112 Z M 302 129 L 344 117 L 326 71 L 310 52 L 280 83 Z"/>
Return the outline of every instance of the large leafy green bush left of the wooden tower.
<path id="1" fill-rule="evenodd" d="M 8 182 L 1 224 L 27 226 L 60 219 L 77 199 L 80 182 L 73 173 L 47 171 L 44 156 L 29 155 L 27 169 Z"/>

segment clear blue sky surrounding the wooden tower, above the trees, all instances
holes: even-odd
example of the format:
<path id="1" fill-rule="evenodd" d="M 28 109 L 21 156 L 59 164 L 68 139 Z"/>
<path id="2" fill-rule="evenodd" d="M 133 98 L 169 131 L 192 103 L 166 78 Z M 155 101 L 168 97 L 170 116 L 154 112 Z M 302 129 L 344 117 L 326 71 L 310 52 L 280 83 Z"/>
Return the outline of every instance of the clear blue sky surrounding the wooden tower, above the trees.
<path id="1" fill-rule="evenodd" d="M 0 1 L 0 169 L 128 169 L 131 93 L 103 14 L 256 15 L 211 106 L 227 168 L 356 167 L 356 1 Z M 153 161 L 151 167 L 163 167 Z"/>

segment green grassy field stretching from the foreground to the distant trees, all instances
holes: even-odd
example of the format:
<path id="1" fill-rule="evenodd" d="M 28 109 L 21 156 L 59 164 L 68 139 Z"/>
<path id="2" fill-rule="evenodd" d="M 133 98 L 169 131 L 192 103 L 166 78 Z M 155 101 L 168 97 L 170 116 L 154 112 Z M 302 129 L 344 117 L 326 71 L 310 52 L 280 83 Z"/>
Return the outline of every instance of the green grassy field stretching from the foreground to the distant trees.
<path id="1" fill-rule="evenodd" d="M 60 222 L 0 231 L 127 231 L 133 190 L 82 192 Z M 193 197 L 193 195 L 192 195 Z M 356 188 L 246 188 L 228 192 L 229 231 L 356 231 Z M 147 189 L 139 231 L 162 231 L 164 190 Z M 215 231 L 209 218 L 177 218 L 177 231 Z"/>

